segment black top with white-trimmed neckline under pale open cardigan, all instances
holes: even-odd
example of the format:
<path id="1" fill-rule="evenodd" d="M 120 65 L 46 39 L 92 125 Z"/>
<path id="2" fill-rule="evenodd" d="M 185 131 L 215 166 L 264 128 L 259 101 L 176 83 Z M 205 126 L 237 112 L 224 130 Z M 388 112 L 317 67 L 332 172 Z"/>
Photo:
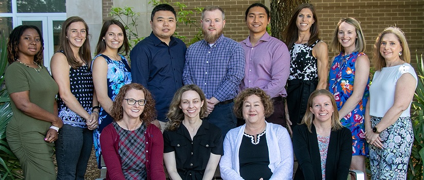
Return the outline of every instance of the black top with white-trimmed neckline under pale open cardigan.
<path id="1" fill-rule="evenodd" d="M 238 159 L 240 163 L 240 175 L 246 180 L 257 180 L 271 178 L 269 169 L 269 154 L 265 131 L 254 136 L 244 133 L 240 145 Z"/>

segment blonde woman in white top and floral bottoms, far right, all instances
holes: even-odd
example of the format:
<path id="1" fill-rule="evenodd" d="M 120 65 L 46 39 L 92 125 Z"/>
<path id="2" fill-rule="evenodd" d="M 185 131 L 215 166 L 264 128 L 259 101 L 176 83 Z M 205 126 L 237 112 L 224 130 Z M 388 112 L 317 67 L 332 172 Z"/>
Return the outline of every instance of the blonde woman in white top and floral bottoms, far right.
<path id="1" fill-rule="evenodd" d="M 365 137 L 370 143 L 372 179 L 407 179 L 414 133 L 410 118 L 417 75 L 403 32 L 388 27 L 374 44 L 376 72 L 366 105 Z"/>

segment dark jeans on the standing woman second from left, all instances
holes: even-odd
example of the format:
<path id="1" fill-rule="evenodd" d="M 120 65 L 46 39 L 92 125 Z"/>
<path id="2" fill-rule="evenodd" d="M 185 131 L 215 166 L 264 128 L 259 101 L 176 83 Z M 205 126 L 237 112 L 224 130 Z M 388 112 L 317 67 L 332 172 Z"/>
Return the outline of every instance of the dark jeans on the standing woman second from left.
<path id="1" fill-rule="evenodd" d="M 59 179 L 84 179 L 93 147 L 93 131 L 63 124 L 56 146 Z"/>

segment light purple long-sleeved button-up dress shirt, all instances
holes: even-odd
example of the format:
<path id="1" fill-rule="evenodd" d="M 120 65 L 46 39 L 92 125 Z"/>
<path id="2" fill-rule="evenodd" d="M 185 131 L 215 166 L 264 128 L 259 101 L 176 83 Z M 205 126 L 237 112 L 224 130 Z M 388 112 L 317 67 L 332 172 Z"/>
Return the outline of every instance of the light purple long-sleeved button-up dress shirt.
<path id="1" fill-rule="evenodd" d="M 245 51 L 245 77 L 240 89 L 259 87 L 269 96 L 286 97 L 284 86 L 290 73 L 290 54 L 286 44 L 268 32 L 253 47 L 250 36 L 240 42 Z"/>

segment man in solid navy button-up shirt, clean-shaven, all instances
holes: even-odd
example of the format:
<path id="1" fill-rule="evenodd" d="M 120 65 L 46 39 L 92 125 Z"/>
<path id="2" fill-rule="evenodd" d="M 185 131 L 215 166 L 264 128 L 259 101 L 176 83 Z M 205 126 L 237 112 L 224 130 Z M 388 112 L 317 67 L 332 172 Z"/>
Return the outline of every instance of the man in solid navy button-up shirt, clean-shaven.
<path id="1" fill-rule="evenodd" d="M 176 21 L 172 6 L 157 5 L 150 21 L 152 33 L 137 43 L 130 53 L 133 82 L 142 84 L 152 93 L 162 131 L 168 121 L 166 113 L 169 103 L 182 86 L 187 50 L 184 42 L 172 36 Z"/>

